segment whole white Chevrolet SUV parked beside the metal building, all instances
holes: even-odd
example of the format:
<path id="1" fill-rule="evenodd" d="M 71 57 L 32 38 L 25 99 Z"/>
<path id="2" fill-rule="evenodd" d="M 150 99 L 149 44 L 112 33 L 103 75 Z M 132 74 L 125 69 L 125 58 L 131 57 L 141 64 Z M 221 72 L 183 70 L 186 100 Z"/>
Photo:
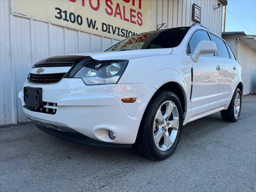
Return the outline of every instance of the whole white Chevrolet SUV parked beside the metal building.
<path id="1" fill-rule="evenodd" d="M 241 66 L 230 46 L 198 24 L 132 36 L 104 52 L 37 62 L 19 93 L 25 116 L 67 140 L 128 148 L 162 160 L 182 126 L 241 111 Z"/>

